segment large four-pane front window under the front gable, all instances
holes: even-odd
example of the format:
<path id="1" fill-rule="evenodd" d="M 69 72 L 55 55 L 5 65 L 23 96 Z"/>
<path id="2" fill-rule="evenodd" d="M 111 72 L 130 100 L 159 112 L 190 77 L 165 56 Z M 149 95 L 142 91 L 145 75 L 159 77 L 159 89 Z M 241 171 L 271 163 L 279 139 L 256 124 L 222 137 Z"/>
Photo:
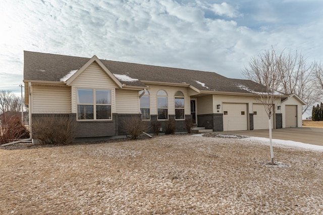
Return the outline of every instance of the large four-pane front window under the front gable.
<path id="1" fill-rule="evenodd" d="M 111 90 L 77 89 L 78 120 L 111 120 Z"/>

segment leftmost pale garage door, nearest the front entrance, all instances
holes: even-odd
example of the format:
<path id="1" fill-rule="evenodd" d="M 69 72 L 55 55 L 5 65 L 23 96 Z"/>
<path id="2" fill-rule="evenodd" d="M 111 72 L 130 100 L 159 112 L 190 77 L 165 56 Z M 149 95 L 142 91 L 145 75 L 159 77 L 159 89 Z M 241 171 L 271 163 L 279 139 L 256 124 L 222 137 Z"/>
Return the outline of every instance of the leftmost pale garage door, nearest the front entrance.
<path id="1" fill-rule="evenodd" d="M 247 104 L 223 103 L 223 130 L 248 130 Z"/>

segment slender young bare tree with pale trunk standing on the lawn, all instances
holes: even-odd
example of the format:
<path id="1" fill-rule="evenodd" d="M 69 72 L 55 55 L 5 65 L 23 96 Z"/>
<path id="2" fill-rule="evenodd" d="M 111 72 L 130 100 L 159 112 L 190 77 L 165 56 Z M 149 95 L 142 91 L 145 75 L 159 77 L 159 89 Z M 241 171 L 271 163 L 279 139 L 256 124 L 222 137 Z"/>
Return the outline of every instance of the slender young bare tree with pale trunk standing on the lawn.
<path id="1" fill-rule="evenodd" d="M 271 50 L 265 50 L 257 57 L 251 58 L 249 62 L 249 68 L 245 68 L 243 71 L 244 76 L 252 81 L 262 84 L 265 87 L 263 92 L 254 92 L 267 113 L 268 125 L 269 125 L 269 138 L 271 148 L 271 163 L 274 165 L 274 150 L 272 142 L 272 121 L 271 118 L 274 115 L 274 105 L 281 93 L 278 92 L 282 67 L 282 54 L 277 55 L 276 51 L 272 47 Z"/>

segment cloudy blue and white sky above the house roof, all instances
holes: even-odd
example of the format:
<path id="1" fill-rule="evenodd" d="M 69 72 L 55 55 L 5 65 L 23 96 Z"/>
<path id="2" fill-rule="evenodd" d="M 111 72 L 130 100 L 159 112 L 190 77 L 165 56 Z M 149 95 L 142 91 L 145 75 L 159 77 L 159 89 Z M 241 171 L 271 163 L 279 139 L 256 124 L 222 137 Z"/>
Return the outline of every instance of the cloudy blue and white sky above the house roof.
<path id="1" fill-rule="evenodd" d="M 321 0 L 2 0 L 0 90 L 20 92 L 23 50 L 243 78 L 273 46 L 323 53 Z"/>

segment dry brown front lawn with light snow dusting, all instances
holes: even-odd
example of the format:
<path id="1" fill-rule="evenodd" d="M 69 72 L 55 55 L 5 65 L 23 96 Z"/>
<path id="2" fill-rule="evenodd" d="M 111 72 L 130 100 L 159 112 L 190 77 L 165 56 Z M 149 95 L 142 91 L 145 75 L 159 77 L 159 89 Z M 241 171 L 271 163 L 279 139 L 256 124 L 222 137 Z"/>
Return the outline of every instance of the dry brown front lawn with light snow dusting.
<path id="1" fill-rule="evenodd" d="M 248 139 L 0 149 L 1 214 L 321 214 L 323 154 Z"/>

